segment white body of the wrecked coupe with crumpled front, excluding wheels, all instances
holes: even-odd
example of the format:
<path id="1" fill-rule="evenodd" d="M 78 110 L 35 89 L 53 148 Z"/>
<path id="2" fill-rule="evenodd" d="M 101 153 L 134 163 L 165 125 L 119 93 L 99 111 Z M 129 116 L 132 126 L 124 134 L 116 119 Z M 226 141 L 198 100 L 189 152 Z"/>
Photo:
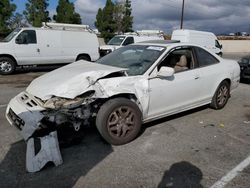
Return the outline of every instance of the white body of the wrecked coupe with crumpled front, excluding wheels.
<path id="1" fill-rule="evenodd" d="M 36 130 L 43 128 L 46 121 L 49 121 L 49 126 L 51 124 L 54 126 L 53 131 L 65 123 L 72 125 L 74 131 L 79 131 L 80 125 L 88 124 L 90 118 L 97 117 L 99 109 L 108 100 L 125 97 L 138 105 L 142 122 L 145 123 L 211 103 L 214 93 L 224 80 L 230 83 L 230 92 L 239 85 L 238 63 L 222 59 L 213 53 L 210 55 L 218 59 L 219 63 L 205 67 L 190 66 L 189 69 L 174 74 L 173 68 L 166 66 L 164 68 L 168 68 L 172 73 L 169 73 L 169 76 L 159 74 L 158 66 L 170 52 L 183 46 L 193 49 L 196 45 L 186 43 L 139 45 L 150 45 L 150 50 L 159 50 L 157 46 L 160 45 L 164 47 L 160 50 L 165 50 L 158 53 L 158 59 L 152 61 L 151 67 L 141 75 L 129 76 L 129 71 L 126 72 L 128 69 L 120 68 L 121 66 L 113 67 L 81 60 L 33 80 L 26 91 L 10 101 L 6 117 L 10 124 L 20 130 L 21 135 L 28 142 L 27 155 L 30 161 L 27 162 L 27 167 L 30 171 L 38 171 L 48 160 L 52 160 L 51 157 L 43 157 L 43 160 L 37 164 L 39 156 L 44 154 L 40 153 L 38 157 L 33 154 L 32 136 Z M 156 47 L 152 48 L 152 46 Z M 131 46 L 124 48 L 132 51 Z M 145 59 L 142 62 L 145 62 Z M 46 135 L 40 140 L 42 140 L 42 147 L 50 142 L 57 145 L 56 137 L 51 138 Z M 48 152 L 52 152 L 51 156 L 56 157 L 54 160 L 56 164 L 62 163 L 58 147 Z M 35 168 L 30 167 L 33 163 L 36 165 Z"/>

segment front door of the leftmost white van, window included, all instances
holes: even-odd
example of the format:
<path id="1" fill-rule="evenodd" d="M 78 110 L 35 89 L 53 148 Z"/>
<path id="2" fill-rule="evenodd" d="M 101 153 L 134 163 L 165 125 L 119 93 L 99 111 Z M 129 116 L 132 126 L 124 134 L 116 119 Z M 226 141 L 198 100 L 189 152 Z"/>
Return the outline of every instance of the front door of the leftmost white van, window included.
<path id="1" fill-rule="evenodd" d="M 15 39 L 14 50 L 18 65 L 37 64 L 40 60 L 40 51 L 36 31 L 22 31 Z"/>

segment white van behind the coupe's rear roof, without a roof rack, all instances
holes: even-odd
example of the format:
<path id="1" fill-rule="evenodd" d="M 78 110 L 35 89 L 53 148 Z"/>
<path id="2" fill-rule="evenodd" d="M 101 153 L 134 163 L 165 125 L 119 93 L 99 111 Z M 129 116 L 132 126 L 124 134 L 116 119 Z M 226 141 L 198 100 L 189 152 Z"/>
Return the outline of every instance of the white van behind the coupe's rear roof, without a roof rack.
<path id="1" fill-rule="evenodd" d="M 211 32 L 178 29 L 173 31 L 171 40 L 198 44 L 222 56 L 222 45 Z"/>

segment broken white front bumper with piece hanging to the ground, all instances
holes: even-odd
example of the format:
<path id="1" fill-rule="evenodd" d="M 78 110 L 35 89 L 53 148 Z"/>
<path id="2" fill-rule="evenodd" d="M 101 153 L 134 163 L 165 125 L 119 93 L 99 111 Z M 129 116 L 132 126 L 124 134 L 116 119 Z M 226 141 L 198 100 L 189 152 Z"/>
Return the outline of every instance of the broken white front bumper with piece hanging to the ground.
<path id="1" fill-rule="evenodd" d="M 28 172 L 37 172 L 48 162 L 53 162 L 56 166 L 62 164 L 56 131 L 44 137 L 32 137 L 44 117 L 43 110 L 45 109 L 37 99 L 26 92 L 14 97 L 6 110 L 7 120 L 20 130 L 27 142 L 26 169 Z"/>

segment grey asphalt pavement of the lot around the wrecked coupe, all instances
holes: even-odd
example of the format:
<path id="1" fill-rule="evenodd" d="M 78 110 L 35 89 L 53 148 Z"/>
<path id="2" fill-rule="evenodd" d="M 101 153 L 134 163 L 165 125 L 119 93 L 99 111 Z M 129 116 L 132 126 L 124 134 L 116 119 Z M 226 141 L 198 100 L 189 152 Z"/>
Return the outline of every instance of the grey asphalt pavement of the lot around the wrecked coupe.
<path id="1" fill-rule="evenodd" d="M 1 188 L 211 187 L 250 156 L 250 84 L 241 83 L 224 109 L 204 106 L 145 124 L 123 146 L 107 144 L 94 126 L 87 127 L 79 144 L 61 148 L 61 166 L 27 173 L 26 144 L 5 119 L 5 109 L 46 71 L 0 76 Z M 249 188 L 250 167 L 225 187 Z"/>

